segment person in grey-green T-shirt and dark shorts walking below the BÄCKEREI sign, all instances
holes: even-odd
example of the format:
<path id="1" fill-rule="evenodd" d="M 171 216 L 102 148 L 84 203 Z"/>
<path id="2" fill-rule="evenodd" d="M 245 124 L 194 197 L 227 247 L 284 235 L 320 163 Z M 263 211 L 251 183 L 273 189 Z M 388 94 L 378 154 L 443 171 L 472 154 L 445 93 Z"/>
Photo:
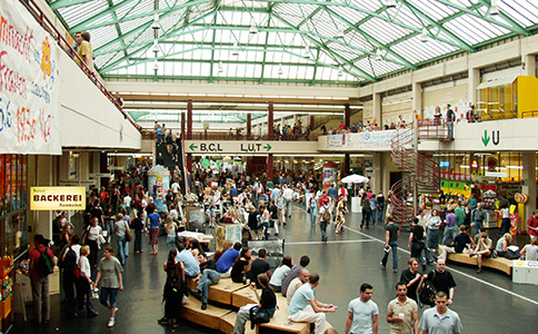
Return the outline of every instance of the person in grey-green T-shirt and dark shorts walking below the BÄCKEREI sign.
<path id="1" fill-rule="evenodd" d="M 123 279 L 121 266 L 118 258 L 113 256 L 113 249 L 110 246 L 104 247 L 102 252 L 103 257 L 99 262 L 97 267 L 97 277 L 93 283 L 93 288 L 101 282 L 101 294 L 99 295 L 99 301 L 101 304 L 110 311 L 110 318 L 108 321 L 108 327 L 111 328 L 116 323 L 116 312 L 118 311 L 116 298 L 118 297 L 118 292 L 123 291 Z"/>

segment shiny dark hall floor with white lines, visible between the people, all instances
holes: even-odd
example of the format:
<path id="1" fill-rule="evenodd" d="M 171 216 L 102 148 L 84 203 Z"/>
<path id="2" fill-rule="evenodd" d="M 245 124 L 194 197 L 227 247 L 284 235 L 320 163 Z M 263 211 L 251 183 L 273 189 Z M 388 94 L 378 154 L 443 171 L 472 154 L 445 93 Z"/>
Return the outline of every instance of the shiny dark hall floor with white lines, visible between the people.
<path id="1" fill-rule="evenodd" d="M 392 259 L 388 268 L 381 269 L 379 262 L 382 256 L 383 229 L 376 225 L 369 229 L 359 228 L 360 215 L 348 215 L 349 228 L 343 234 L 333 233 L 329 227 L 329 242 L 320 243 L 319 227 L 310 227 L 308 216 L 298 206 L 293 208 L 292 223 L 282 228 L 280 236 L 286 239 L 285 253 L 298 262 L 307 254 L 311 257 L 310 272 L 317 272 L 321 282 L 317 288 L 319 301 L 338 305 L 338 312 L 328 315 L 328 321 L 343 333 L 347 317 L 347 306 L 351 298 L 358 296 L 361 283 L 373 285 L 372 299 L 380 310 L 379 333 L 389 333 L 386 322 L 388 302 L 395 297 L 393 286 L 399 281 L 400 273 L 393 274 Z M 490 232 L 496 234 L 495 230 Z M 408 233 L 402 232 L 399 245 L 407 245 Z M 496 238 L 495 238 L 496 239 Z M 524 243 L 521 237 L 519 243 Z M 119 294 L 117 323 L 110 332 L 116 333 L 169 333 L 169 328 L 157 324 L 162 316 L 163 305 L 161 293 L 165 283 L 162 264 L 166 261 L 166 242 L 161 238 L 160 252 L 157 257 L 149 255 L 149 246 L 145 240 L 146 253 L 131 255 L 126 265 L 126 289 Z M 407 267 L 409 253 L 407 248 L 399 249 L 399 272 Z M 476 268 L 450 264 L 456 283 L 455 304 L 451 307 L 458 312 L 464 333 L 521 333 L 534 334 L 536 315 L 538 314 L 538 289 L 534 285 L 512 284 L 511 279 L 500 273 L 485 269 L 477 275 Z M 59 296 L 53 296 L 51 324 L 47 328 L 32 327 L 17 317 L 11 333 L 103 333 L 107 330 L 107 311 L 97 305 L 100 316 L 96 318 L 70 318 L 60 310 Z M 97 302 L 97 301 L 94 301 Z M 97 304 L 97 303 L 96 303 Z M 29 318 L 32 317 L 28 307 Z M 420 314 L 422 311 L 420 311 Z M 180 333 L 210 333 L 191 324 L 182 324 L 176 330 Z"/>

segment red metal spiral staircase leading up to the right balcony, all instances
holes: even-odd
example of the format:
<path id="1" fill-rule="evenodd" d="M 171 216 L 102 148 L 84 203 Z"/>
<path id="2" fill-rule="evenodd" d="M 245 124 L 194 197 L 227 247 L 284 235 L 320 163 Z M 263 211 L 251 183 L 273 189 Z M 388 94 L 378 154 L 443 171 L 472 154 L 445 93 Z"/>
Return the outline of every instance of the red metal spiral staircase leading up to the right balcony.
<path id="1" fill-rule="evenodd" d="M 432 159 L 415 151 L 414 127 L 400 128 L 391 140 L 392 163 L 402 171 L 404 177 L 390 188 L 392 216 L 401 226 L 415 219 L 414 189 L 417 197 L 422 194 L 439 194 L 441 186 L 439 165 Z"/>

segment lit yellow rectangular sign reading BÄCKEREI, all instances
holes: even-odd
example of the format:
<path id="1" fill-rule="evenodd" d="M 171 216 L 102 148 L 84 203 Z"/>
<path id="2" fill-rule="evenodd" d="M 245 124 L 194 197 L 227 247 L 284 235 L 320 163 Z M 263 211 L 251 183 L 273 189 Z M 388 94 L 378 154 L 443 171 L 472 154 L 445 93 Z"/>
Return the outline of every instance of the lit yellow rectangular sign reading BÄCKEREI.
<path id="1" fill-rule="evenodd" d="M 83 210 L 84 187 L 31 187 L 31 210 Z"/>

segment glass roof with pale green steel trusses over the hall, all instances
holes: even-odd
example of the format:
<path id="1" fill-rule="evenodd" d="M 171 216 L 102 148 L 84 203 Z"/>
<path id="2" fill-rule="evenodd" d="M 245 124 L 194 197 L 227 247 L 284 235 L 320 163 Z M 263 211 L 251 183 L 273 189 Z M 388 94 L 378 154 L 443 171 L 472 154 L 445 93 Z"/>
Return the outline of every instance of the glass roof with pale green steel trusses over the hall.
<path id="1" fill-rule="evenodd" d="M 538 28 L 536 0 L 47 1 L 103 78 L 360 86 Z"/>

